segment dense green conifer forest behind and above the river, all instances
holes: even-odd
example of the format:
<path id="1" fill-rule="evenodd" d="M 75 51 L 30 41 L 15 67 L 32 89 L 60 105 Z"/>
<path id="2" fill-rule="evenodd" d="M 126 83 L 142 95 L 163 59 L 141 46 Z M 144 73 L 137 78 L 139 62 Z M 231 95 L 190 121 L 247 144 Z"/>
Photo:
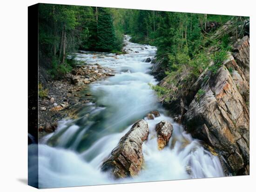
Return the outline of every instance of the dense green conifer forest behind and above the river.
<path id="1" fill-rule="evenodd" d="M 246 17 L 40 4 L 40 58 L 47 58 L 40 60 L 47 60 L 41 63 L 51 77 L 61 78 L 74 67 L 68 55 L 78 50 L 124 53 L 123 35 L 129 34 L 132 42 L 156 46 L 156 57 L 167 71 L 177 71 L 183 63 L 198 75 L 208 62 L 200 54 L 206 47 L 230 48 L 227 35 L 222 42 L 211 38 L 212 31 L 230 19 L 238 39 L 245 33 L 238 26 Z"/>

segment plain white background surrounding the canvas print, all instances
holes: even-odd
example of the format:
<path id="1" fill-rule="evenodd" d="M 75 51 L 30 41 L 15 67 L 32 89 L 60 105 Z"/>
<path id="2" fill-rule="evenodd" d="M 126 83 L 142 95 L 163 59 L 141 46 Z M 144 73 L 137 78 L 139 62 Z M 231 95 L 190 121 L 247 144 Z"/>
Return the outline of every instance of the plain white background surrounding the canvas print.
<path id="1" fill-rule="evenodd" d="M 108 6 L 189 13 L 250 16 L 250 176 L 191 179 L 107 186 L 48 189 L 48 191 L 240 191 L 255 188 L 255 5 L 252 0 L 42 0 L 41 3 Z M 6 0 L 0 5 L 0 189 L 36 191 L 24 184 L 27 179 L 27 6 L 36 0 Z M 253 72 L 252 72 L 253 71 Z M 171 163 L 171 162 L 167 162 Z M 161 174 L 161 173 L 159 173 Z M 23 181 L 23 182 L 22 182 Z M 26 181 L 26 180 L 25 180 Z M 45 190 L 40 190 L 45 191 Z"/>

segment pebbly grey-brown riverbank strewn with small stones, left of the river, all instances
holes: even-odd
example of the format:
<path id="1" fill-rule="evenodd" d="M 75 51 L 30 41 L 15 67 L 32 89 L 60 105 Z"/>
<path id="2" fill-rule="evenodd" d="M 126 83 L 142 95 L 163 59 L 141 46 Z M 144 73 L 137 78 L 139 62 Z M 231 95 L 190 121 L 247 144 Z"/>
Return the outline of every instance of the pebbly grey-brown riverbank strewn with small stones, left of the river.
<path id="1" fill-rule="evenodd" d="M 45 81 L 41 90 L 46 93 L 39 97 L 39 139 L 52 133 L 58 122 L 69 116 L 74 118 L 74 106 L 80 108 L 94 100 L 88 86 L 98 80 L 115 76 L 114 70 L 100 64 L 81 64 L 61 80 Z"/>

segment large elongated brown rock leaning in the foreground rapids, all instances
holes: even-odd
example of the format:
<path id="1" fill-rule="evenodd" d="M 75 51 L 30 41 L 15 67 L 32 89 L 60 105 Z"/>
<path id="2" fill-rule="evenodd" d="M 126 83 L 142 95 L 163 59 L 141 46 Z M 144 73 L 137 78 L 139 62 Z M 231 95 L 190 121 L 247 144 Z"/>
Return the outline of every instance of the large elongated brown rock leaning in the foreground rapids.
<path id="1" fill-rule="evenodd" d="M 148 123 L 145 120 L 135 122 L 110 157 L 101 166 L 102 171 L 111 170 L 116 178 L 134 177 L 142 166 L 142 143 L 148 138 Z"/>

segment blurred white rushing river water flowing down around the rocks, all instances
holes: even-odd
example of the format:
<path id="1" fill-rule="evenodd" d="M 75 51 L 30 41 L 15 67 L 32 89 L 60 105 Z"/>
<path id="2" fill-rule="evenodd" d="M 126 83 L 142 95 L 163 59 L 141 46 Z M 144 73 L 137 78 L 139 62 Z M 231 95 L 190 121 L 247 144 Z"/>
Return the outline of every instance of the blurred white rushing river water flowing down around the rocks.
<path id="1" fill-rule="evenodd" d="M 224 176 L 218 156 L 205 150 L 200 142 L 186 134 L 183 127 L 166 115 L 148 83 L 157 84 L 148 75 L 152 64 L 145 63 L 155 56 L 156 48 L 124 40 L 128 54 L 77 53 L 77 60 L 98 63 L 115 70 L 116 75 L 90 85 L 95 103 L 87 106 L 75 120 L 63 120 L 57 130 L 42 138 L 39 145 L 39 187 L 85 186 L 172 179 L 208 178 Z M 144 48 L 144 49 L 141 49 Z M 135 51 L 139 51 L 136 53 Z M 145 115 L 160 111 L 154 120 Z M 114 179 L 100 170 L 121 137 L 132 124 L 144 118 L 148 122 L 148 140 L 143 143 L 143 169 L 135 178 Z M 155 124 L 168 120 L 174 131 L 167 147 L 157 148 Z M 52 146 L 52 147 L 51 147 Z M 30 145 L 29 158 L 34 145 Z M 30 167 L 33 172 L 33 167 Z"/>

